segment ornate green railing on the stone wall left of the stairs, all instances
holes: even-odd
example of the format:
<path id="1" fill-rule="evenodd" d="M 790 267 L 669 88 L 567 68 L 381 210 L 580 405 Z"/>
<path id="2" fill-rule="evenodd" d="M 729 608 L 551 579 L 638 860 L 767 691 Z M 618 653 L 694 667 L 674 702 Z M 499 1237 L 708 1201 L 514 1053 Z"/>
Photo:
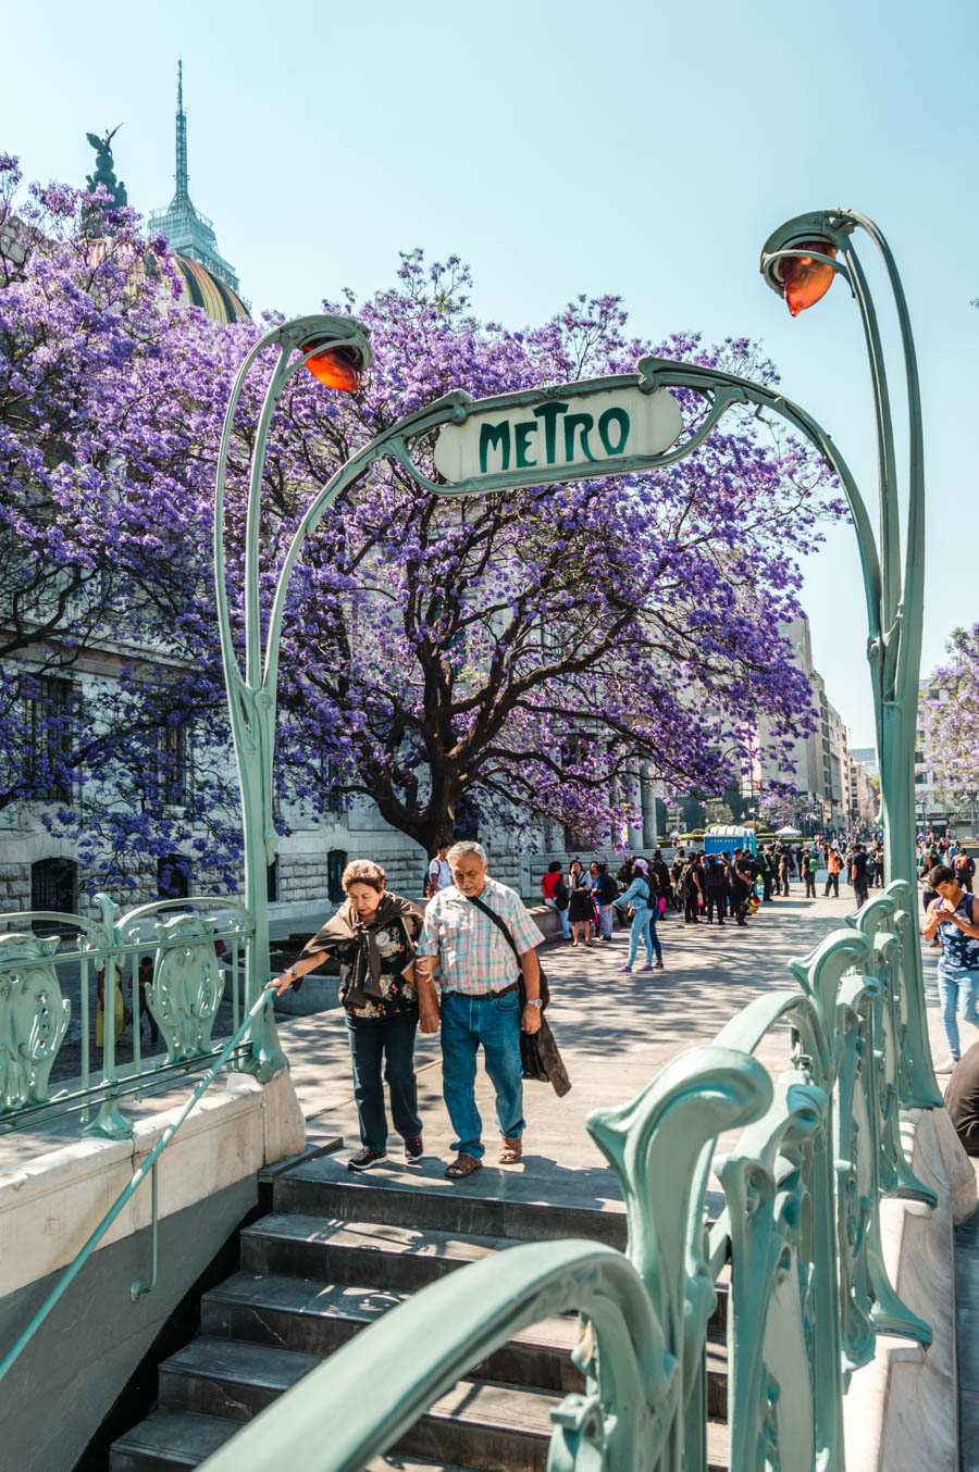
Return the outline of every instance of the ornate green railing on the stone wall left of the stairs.
<path id="1" fill-rule="evenodd" d="M 105 895 L 96 902 L 97 920 L 0 914 L 0 1133 L 68 1113 L 79 1113 L 84 1133 L 130 1133 L 118 1100 L 206 1069 L 221 1051 L 212 1041 L 221 1002 L 230 1004 L 227 1030 L 234 1032 L 255 1001 L 240 994 L 255 921 L 236 899 L 166 899 L 127 914 Z M 227 979 L 218 946 L 227 954 Z M 153 961 L 144 995 L 143 957 Z M 143 1051 L 144 1007 L 162 1038 L 150 1057 Z M 71 1070 L 63 1054 L 69 1041 L 78 1044 Z M 247 1044 L 234 1061 L 247 1066 Z M 56 1069 L 60 1078 L 52 1083 Z"/>

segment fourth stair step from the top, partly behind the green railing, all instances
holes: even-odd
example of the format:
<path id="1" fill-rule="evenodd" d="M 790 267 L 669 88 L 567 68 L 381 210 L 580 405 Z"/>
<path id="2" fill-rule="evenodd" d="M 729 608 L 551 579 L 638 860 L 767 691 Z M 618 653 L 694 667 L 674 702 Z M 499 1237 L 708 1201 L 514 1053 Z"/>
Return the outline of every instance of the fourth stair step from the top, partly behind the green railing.
<path id="1" fill-rule="evenodd" d="M 290 1350 L 200 1337 L 160 1366 L 160 1404 L 243 1422 L 309 1373 L 319 1359 Z M 477 1472 L 546 1472 L 551 1391 L 458 1381 L 399 1440 L 396 1450 Z"/>

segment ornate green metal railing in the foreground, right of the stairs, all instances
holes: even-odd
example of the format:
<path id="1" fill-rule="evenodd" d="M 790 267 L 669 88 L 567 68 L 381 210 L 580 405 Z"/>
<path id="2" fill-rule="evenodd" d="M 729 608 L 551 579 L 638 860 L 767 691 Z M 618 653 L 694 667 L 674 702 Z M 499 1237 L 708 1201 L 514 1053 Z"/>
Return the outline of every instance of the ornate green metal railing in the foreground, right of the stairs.
<path id="1" fill-rule="evenodd" d="M 552 1412 L 551 1472 L 705 1472 L 721 1275 L 732 1472 L 844 1472 L 844 1395 L 876 1334 L 930 1342 L 880 1247 L 885 1197 L 935 1204 L 898 1133 L 916 945 L 914 892 L 892 883 L 792 963 L 794 988 L 758 997 L 630 1104 L 589 1116 L 626 1201 L 624 1254 L 520 1245 L 449 1275 L 305 1376 L 208 1472 L 362 1472 L 487 1354 L 573 1310 L 586 1391 Z M 779 1035 L 788 1067 L 771 1078 L 755 1052 Z M 741 1133 L 715 1163 L 729 1130 Z"/>

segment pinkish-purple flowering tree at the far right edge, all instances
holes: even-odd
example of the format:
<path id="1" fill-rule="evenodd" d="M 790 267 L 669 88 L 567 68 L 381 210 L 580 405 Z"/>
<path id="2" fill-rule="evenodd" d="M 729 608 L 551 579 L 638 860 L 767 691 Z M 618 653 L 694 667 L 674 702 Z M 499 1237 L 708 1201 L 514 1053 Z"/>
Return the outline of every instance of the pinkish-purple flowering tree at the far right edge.
<path id="1" fill-rule="evenodd" d="M 945 661 L 926 682 L 920 724 L 926 762 L 950 805 L 975 804 L 979 793 L 979 624 L 954 629 Z M 925 789 L 922 789 L 923 792 Z"/>

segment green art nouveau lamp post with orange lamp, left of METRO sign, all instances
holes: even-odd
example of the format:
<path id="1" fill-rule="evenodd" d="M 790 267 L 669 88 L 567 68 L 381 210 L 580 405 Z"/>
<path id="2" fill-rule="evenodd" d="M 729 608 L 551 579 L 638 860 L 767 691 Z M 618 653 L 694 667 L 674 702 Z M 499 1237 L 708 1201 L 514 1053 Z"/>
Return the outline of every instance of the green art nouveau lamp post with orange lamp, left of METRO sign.
<path id="1" fill-rule="evenodd" d="M 255 449 L 249 473 L 249 499 L 244 531 L 244 668 L 238 658 L 228 606 L 225 559 L 225 478 L 234 415 L 244 380 L 256 358 L 266 347 L 278 349 L 278 361 L 268 381 L 265 400 L 255 430 Z M 228 692 L 231 733 L 241 785 L 241 829 L 244 842 L 244 902 L 255 917 L 255 939 L 246 961 L 246 1007 L 258 998 L 268 980 L 268 867 L 275 858 L 278 835 L 272 823 L 272 754 L 275 749 L 275 690 L 278 668 L 278 630 L 284 586 L 293 561 L 287 558 L 272 614 L 265 620 L 261 605 L 259 526 L 262 512 L 262 473 L 268 431 L 275 406 L 291 375 L 303 367 L 330 389 L 355 393 L 361 374 L 371 362 L 367 328 L 349 316 L 302 316 L 265 333 L 241 364 L 224 421 L 218 452 L 213 515 L 215 595 L 221 657 Z M 252 1067 L 259 1078 L 269 1078 L 283 1066 L 269 1001 L 252 1035 Z"/>

